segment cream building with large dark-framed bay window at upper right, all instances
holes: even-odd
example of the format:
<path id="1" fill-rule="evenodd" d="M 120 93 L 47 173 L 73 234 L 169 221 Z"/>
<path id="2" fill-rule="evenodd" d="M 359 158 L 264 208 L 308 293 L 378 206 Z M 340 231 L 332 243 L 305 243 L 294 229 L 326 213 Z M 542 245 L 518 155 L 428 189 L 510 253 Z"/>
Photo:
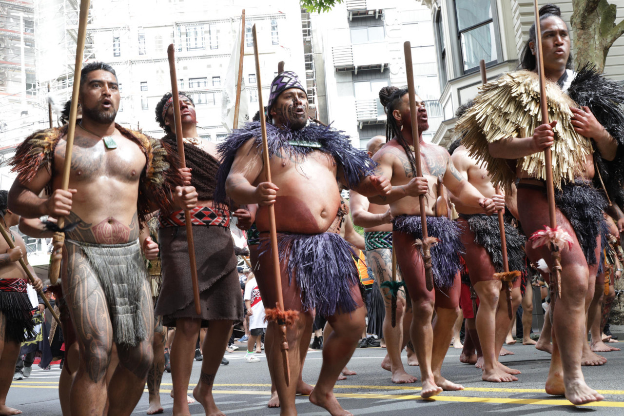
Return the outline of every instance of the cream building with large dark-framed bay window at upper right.
<path id="1" fill-rule="evenodd" d="M 552 0 L 563 20 L 572 16 L 572 1 Z M 433 142 L 448 146 L 454 138 L 455 111 L 477 95 L 481 84 L 479 61 L 484 59 L 488 79 L 513 71 L 533 24 L 534 3 L 526 0 L 421 0 L 429 7 L 434 25 L 440 104 L 444 121 Z M 610 1 L 624 14 L 624 2 Z M 572 51 L 574 39 L 572 36 Z M 624 79 L 624 38 L 611 47 L 605 74 Z"/>

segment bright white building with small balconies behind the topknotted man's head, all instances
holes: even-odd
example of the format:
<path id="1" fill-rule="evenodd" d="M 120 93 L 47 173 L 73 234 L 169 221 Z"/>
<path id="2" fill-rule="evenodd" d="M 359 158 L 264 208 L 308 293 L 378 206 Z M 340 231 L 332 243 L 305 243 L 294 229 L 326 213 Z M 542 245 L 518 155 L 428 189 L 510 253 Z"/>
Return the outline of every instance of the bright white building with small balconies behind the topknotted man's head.
<path id="1" fill-rule="evenodd" d="M 404 87 L 407 77 L 403 42 L 410 41 L 416 92 L 426 101 L 431 141 L 442 121 L 430 11 L 418 2 L 346 0 L 331 11 L 312 14 L 319 116 L 343 130 L 356 147 L 386 134 L 379 89 Z M 317 73 L 320 71 L 317 71 Z M 321 82 L 321 77 L 324 82 Z"/>

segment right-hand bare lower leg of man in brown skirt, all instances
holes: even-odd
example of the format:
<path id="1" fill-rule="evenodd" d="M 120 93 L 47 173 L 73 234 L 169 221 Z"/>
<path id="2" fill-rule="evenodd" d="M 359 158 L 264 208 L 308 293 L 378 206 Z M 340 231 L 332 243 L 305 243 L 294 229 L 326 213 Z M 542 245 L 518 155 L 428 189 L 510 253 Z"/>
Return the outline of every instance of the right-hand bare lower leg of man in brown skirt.
<path id="1" fill-rule="evenodd" d="M 219 365 L 221 365 L 223 354 L 225 354 L 225 347 L 227 347 L 228 340 L 230 340 L 231 328 L 231 320 L 211 320 L 207 337 L 203 343 L 205 354 L 202 360 L 202 372 L 199 382 L 193 389 L 193 397 L 195 397 L 198 403 L 202 404 L 206 416 L 225 416 L 218 409 L 215 399 L 212 397 L 212 385 Z"/>

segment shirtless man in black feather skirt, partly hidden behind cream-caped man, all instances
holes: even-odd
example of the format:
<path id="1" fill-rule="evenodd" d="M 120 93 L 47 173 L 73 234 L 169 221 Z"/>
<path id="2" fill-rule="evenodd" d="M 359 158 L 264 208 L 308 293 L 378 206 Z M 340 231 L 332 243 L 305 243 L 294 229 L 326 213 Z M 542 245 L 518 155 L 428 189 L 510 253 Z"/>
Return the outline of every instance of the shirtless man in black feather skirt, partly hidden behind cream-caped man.
<path id="1" fill-rule="evenodd" d="M 457 117 L 461 117 L 461 114 Z M 505 204 L 505 197 L 495 193 L 487 169 L 468 154 L 466 147 L 461 145 L 457 147 L 451 160 L 459 174 L 481 194 L 499 204 Z M 509 369 L 499 362 L 499 352 L 505 342 L 511 320 L 507 313 L 507 295 L 504 289 L 507 283 L 494 277 L 495 273 L 504 272 L 498 219 L 495 215 L 483 214 L 480 208 L 464 206 L 454 194 L 451 195 L 451 201 L 456 204 L 459 212 L 457 221 L 462 225 L 462 242 L 466 253 L 464 260 L 468 267 L 470 282 L 480 300 L 475 325 L 483 357 L 481 378 L 489 382 L 517 381 L 515 374 L 520 372 Z M 525 272 L 525 238 L 508 223 L 505 223 L 505 236 L 509 270 Z M 514 314 L 521 300 L 521 280 L 522 277 L 515 279 L 512 290 Z"/>

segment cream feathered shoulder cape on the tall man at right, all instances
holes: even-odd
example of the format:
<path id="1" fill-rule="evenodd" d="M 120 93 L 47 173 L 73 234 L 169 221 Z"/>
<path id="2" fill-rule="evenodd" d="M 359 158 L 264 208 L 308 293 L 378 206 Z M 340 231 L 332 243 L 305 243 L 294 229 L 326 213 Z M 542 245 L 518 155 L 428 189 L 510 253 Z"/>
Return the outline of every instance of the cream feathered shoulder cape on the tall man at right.
<path id="1" fill-rule="evenodd" d="M 490 156 L 488 145 L 508 137 L 532 136 L 535 127 L 542 124 L 540 116 L 540 82 L 535 72 L 515 71 L 480 87 L 480 92 L 456 125 L 464 135 L 462 144 L 470 156 L 487 163 L 487 170 L 495 185 L 509 189 L 515 172 L 507 159 Z M 571 124 L 570 107 L 578 107 L 555 82 L 547 82 L 548 119 L 557 120 L 555 142 L 552 146 L 553 180 L 560 189 L 562 182 L 574 181 L 582 174 L 592 144 L 579 136 Z M 517 166 L 539 179 L 546 178 L 544 152 L 518 159 Z"/>

